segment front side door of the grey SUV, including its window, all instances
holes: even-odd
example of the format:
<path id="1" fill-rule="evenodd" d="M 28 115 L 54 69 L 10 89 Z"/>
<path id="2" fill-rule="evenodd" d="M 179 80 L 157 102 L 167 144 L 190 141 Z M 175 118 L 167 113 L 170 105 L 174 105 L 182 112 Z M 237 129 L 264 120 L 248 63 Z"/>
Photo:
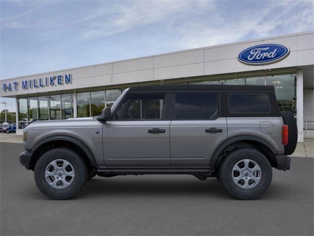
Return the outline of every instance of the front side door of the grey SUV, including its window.
<path id="1" fill-rule="evenodd" d="M 170 166 L 170 120 L 165 94 L 129 93 L 104 124 L 106 166 Z"/>

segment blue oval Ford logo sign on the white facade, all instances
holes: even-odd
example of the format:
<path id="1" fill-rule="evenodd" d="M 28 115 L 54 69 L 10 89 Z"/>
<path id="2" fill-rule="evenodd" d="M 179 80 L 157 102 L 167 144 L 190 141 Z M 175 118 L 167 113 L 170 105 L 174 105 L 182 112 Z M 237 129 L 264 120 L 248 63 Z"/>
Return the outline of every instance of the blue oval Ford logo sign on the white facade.
<path id="1" fill-rule="evenodd" d="M 237 59 L 249 65 L 265 65 L 286 58 L 290 53 L 287 46 L 276 43 L 259 44 L 239 53 Z"/>

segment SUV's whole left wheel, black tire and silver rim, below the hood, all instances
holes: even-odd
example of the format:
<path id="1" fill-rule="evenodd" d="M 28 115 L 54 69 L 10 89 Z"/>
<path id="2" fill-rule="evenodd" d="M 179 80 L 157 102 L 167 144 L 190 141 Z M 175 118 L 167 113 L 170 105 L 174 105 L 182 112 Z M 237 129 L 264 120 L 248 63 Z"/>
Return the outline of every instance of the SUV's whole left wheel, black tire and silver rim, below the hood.
<path id="1" fill-rule="evenodd" d="M 39 158 L 34 178 L 38 189 L 47 197 L 65 200 L 81 190 L 87 178 L 87 167 L 76 151 L 55 148 Z"/>

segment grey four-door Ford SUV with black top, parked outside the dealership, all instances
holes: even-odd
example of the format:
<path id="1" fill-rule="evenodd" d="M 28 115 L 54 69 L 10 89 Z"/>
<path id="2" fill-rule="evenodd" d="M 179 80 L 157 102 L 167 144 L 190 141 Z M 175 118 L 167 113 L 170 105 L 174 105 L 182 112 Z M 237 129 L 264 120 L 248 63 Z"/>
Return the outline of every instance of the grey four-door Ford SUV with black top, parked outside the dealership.
<path id="1" fill-rule="evenodd" d="M 251 200 L 269 187 L 272 167 L 289 170 L 297 142 L 273 86 L 135 86 L 100 116 L 38 120 L 23 135 L 20 162 L 55 200 L 96 175 L 143 174 L 216 177 Z"/>

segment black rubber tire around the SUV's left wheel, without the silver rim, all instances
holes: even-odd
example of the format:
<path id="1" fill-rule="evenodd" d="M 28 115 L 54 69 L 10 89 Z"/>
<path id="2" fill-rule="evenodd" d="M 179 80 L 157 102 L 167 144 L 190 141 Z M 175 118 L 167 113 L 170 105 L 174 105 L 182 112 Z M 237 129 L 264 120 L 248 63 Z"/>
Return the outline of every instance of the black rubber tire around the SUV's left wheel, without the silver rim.
<path id="1" fill-rule="evenodd" d="M 73 182 L 66 188 L 56 189 L 49 185 L 45 177 L 46 167 L 56 159 L 71 163 L 75 171 Z M 66 200 L 76 195 L 83 187 L 87 178 L 87 166 L 82 157 L 69 148 L 55 148 L 44 153 L 36 163 L 34 178 L 38 189 L 53 200 Z"/>

